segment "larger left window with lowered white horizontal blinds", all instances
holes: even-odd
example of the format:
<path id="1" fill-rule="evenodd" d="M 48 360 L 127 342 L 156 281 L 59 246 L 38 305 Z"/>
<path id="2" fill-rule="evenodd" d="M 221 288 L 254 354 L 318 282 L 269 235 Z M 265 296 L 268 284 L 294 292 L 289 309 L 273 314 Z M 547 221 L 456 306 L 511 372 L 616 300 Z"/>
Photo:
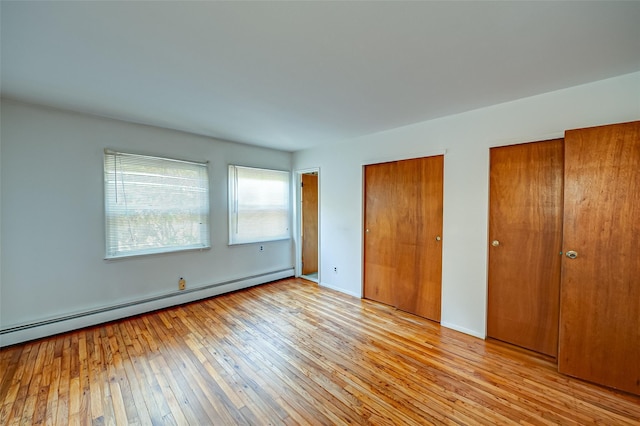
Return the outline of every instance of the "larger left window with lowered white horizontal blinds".
<path id="1" fill-rule="evenodd" d="M 105 150 L 106 258 L 203 249 L 207 163 Z"/>

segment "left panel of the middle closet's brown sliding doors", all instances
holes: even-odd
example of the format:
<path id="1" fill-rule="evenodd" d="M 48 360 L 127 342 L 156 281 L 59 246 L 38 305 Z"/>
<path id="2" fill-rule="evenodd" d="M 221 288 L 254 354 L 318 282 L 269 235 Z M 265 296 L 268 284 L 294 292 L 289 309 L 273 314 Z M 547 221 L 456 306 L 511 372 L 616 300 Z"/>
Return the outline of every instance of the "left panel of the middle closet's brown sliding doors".
<path id="1" fill-rule="evenodd" d="M 364 297 L 395 306 L 396 163 L 364 168 Z"/>

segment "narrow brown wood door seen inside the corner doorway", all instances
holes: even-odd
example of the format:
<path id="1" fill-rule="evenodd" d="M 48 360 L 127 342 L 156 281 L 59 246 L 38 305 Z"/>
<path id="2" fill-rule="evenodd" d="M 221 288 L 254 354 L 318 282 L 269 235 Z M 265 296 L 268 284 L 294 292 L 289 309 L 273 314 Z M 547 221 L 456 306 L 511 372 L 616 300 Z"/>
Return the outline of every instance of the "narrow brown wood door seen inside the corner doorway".
<path id="1" fill-rule="evenodd" d="M 302 275 L 318 272 L 318 175 L 302 175 Z"/>

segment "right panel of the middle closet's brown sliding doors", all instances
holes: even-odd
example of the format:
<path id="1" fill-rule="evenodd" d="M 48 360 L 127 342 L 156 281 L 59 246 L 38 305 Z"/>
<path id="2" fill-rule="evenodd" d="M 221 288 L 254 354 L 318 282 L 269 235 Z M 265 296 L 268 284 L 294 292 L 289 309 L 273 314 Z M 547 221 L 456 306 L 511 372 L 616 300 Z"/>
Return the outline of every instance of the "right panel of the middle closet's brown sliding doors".
<path id="1" fill-rule="evenodd" d="M 396 307 L 440 321 L 442 293 L 442 155 L 399 161 Z"/>

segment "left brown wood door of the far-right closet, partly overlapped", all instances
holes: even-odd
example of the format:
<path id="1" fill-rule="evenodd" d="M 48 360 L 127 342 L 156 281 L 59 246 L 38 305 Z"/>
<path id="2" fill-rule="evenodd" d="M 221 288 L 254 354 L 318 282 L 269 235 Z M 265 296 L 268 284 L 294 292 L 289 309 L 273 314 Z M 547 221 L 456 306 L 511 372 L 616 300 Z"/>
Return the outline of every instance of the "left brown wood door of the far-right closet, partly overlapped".
<path id="1" fill-rule="evenodd" d="M 558 348 L 563 140 L 492 148 L 487 335 Z"/>

